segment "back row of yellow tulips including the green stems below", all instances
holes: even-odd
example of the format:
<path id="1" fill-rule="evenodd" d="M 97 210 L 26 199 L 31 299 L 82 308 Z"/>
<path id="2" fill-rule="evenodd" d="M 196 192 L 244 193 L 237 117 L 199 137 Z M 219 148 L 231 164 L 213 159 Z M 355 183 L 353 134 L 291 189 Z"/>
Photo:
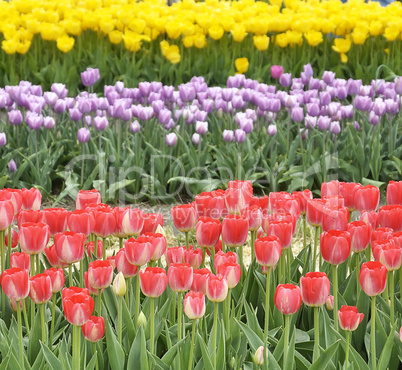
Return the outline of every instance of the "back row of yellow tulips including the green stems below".
<path id="1" fill-rule="evenodd" d="M 71 75 L 71 70 L 97 65 L 108 84 L 114 82 L 112 70 L 118 74 L 124 70 L 130 83 L 155 79 L 155 70 L 160 70 L 159 78 L 167 83 L 209 74 L 212 83 L 223 84 L 227 71 L 235 70 L 235 58 L 249 58 L 251 77 L 260 78 L 266 74 L 265 65 L 285 63 L 294 68 L 301 58 L 311 62 L 315 51 L 321 54 L 314 58 L 316 67 L 335 69 L 345 76 L 352 72 L 354 77 L 365 78 L 362 66 L 370 75 L 382 64 L 397 73 L 401 67 L 401 6 L 397 1 L 387 7 L 337 0 L 286 1 L 283 7 L 248 0 L 184 1 L 171 7 L 160 0 L 123 1 L 119 6 L 63 1 L 56 9 L 51 1 L 16 0 L 2 2 L 0 13 L 1 58 L 7 66 L 2 68 L 12 82 L 24 76 L 50 84 L 49 76 L 62 78 Z M 64 58 L 65 53 L 69 58 Z M 20 69 L 8 54 L 17 54 Z M 110 58 L 111 54 L 115 57 Z M 350 60 L 348 71 L 339 68 L 338 55 L 344 63 Z M 138 65 L 128 67 L 133 58 Z M 39 75 L 27 75 L 32 64 L 35 71 L 41 71 Z M 8 77 L 2 83 L 6 81 Z M 69 87 L 75 90 L 78 82 L 71 75 Z"/>

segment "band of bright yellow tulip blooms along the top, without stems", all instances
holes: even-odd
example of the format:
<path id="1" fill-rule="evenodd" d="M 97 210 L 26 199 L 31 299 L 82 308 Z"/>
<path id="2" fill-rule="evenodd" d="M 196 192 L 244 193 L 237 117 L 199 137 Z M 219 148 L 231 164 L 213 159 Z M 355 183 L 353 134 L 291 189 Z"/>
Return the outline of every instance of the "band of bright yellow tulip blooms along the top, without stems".
<path id="1" fill-rule="evenodd" d="M 317 46 L 326 35 L 337 37 L 333 49 L 342 60 L 352 44 L 362 45 L 370 37 L 387 41 L 402 39 L 402 4 L 381 7 L 364 0 L 254 0 L 195 2 L 183 0 L 168 6 L 163 0 L 11 0 L 0 1 L 2 49 L 7 54 L 25 54 L 34 35 L 56 41 L 67 53 L 76 37 L 91 30 L 108 36 L 113 44 L 124 43 L 136 52 L 143 41 L 165 35 L 162 54 L 172 63 L 180 62 L 184 47 L 202 49 L 209 39 L 229 37 L 242 42 L 253 35 L 256 49 L 267 50 L 269 43 L 285 48 Z M 177 43 L 176 41 L 176 43 Z M 347 59 L 347 58 L 346 58 Z"/>

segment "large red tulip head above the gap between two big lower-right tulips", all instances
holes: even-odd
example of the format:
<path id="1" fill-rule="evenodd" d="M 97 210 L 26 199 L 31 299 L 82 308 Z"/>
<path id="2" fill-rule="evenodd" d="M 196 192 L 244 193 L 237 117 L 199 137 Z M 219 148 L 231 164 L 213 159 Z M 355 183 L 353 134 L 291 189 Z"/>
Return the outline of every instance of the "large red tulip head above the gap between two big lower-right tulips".
<path id="1" fill-rule="evenodd" d="M 350 255 L 350 243 L 350 234 L 347 231 L 324 231 L 320 238 L 322 258 L 331 265 L 345 262 Z"/>

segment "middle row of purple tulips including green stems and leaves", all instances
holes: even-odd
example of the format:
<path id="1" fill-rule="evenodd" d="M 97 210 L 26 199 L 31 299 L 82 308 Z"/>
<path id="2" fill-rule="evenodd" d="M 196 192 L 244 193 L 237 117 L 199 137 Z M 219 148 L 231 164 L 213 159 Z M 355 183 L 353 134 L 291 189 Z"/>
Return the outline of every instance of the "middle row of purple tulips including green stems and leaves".
<path id="1" fill-rule="evenodd" d="M 253 176 L 271 190 L 312 187 L 325 181 L 328 171 L 346 181 L 400 176 L 401 77 L 364 85 L 325 71 L 319 79 L 310 64 L 298 78 L 280 66 L 271 74 L 273 85 L 236 75 L 226 88 L 208 87 L 202 77 L 177 89 L 160 82 L 140 82 L 135 88 L 117 82 L 104 87 L 103 97 L 86 91 L 68 97 L 59 83 L 46 92 L 29 82 L 6 86 L 0 89 L 6 113 L 1 118 L 2 168 L 8 163 L 16 174 L 5 181 L 38 184 L 49 193 L 51 179 L 67 181 L 69 191 L 74 184 L 89 188 L 102 182 L 106 201 L 118 190 L 137 198 L 172 198 L 188 183 L 187 190 L 197 194 L 210 188 L 212 179 L 227 181 L 219 178 L 224 173 L 229 179 Z M 88 68 L 81 78 L 91 89 L 99 70 Z M 227 156 L 221 148 L 227 148 Z"/>

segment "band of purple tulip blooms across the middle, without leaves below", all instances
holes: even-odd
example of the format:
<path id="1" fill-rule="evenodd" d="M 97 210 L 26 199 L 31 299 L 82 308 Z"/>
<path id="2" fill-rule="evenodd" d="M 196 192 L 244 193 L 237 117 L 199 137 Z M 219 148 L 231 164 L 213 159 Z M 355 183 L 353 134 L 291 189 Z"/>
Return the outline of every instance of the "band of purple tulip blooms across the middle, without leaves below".
<path id="1" fill-rule="evenodd" d="M 99 79 L 99 71 L 89 68 L 81 78 L 84 86 L 92 86 Z M 342 121 L 353 121 L 356 129 L 360 128 L 356 111 L 364 112 L 371 125 L 378 125 L 382 117 L 398 114 L 402 101 L 402 77 L 394 82 L 373 80 L 363 85 L 361 80 L 336 78 L 330 71 L 316 78 L 308 64 L 300 77 L 275 72 L 273 78 L 277 83 L 267 85 L 235 75 L 228 78 L 227 87 L 209 87 L 203 77 L 193 77 L 177 88 L 156 81 L 127 88 L 118 81 L 105 86 L 101 97 L 86 91 L 70 97 L 61 83 L 43 92 L 41 86 L 21 81 L 18 86 L 0 89 L 0 113 L 5 109 L 11 125 L 25 123 L 31 130 L 51 130 L 60 116 L 66 115 L 78 123 L 78 128 L 82 126 L 77 133 L 82 143 L 89 141 L 91 127 L 103 131 L 114 120 L 121 120 L 136 133 L 155 118 L 167 131 L 166 143 L 175 145 L 173 130 L 181 122 L 195 125 L 192 140 L 198 144 L 208 132 L 211 116 L 221 117 L 223 113 L 230 120 L 222 127 L 223 139 L 243 142 L 257 120 L 265 123 L 262 126 L 271 136 L 277 132 L 276 122 L 283 117 L 302 123 L 303 135 L 314 128 L 339 134 Z M 0 133 L 0 146 L 6 141 L 6 135 Z"/>

